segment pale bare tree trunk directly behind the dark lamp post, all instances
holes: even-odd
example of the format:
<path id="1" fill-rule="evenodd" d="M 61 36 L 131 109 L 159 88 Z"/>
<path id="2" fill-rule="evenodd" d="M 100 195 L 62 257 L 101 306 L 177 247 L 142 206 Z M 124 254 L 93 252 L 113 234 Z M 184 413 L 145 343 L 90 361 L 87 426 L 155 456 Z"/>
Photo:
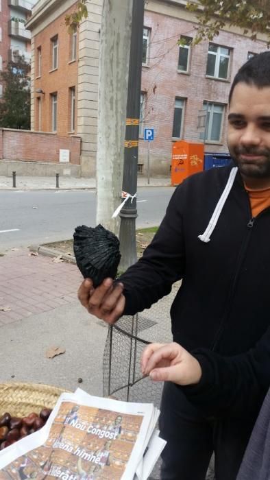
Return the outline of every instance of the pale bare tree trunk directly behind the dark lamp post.
<path id="1" fill-rule="evenodd" d="M 112 213 L 121 203 L 132 0 L 104 0 L 99 51 L 97 224 L 118 235 Z"/>

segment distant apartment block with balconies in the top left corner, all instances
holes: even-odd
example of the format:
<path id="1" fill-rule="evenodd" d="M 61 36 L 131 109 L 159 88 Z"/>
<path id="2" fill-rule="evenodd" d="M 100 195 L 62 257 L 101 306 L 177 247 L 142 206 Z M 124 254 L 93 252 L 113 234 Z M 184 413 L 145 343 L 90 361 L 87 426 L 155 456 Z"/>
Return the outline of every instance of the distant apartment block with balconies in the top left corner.
<path id="1" fill-rule="evenodd" d="M 32 6 L 27 0 L 0 0 L 0 70 L 6 62 L 16 62 L 18 56 L 24 56 L 30 62 L 31 34 L 25 29 L 25 22 Z"/>

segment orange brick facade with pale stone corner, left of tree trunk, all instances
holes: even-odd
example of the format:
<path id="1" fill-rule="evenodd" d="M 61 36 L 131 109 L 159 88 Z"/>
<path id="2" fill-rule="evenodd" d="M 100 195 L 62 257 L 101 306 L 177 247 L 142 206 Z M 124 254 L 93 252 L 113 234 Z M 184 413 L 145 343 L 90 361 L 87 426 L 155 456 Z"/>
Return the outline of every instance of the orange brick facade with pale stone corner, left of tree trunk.
<path id="1" fill-rule="evenodd" d="M 97 85 L 102 0 L 88 3 L 88 19 L 69 35 L 64 17 L 76 0 L 39 0 L 32 32 L 32 130 L 82 139 L 82 175 L 95 174 Z"/>

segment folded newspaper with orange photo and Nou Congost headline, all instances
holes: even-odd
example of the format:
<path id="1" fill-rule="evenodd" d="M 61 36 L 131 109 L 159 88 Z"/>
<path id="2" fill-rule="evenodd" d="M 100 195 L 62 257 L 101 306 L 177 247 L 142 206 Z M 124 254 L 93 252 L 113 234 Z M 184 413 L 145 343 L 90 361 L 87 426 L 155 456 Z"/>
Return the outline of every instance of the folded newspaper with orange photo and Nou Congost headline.
<path id="1" fill-rule="evenodd" d="M 0 452 L 0 480 L 147 480 L 166 444 L 159 413 L 149 403 L 64 393 L 42 429 Z"/>

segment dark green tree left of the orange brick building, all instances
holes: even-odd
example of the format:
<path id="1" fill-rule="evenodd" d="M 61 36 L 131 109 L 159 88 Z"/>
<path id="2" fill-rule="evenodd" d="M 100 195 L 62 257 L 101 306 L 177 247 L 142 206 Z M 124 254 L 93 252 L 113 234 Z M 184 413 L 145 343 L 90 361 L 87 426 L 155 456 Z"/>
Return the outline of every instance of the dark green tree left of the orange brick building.
<path id="1" fill-rule="evenodd" d="M 0 101 L 0 127 L 30 130 L 30 65 L 23 57 L 8 62 L 0 73 L 3 96 Z"/>

